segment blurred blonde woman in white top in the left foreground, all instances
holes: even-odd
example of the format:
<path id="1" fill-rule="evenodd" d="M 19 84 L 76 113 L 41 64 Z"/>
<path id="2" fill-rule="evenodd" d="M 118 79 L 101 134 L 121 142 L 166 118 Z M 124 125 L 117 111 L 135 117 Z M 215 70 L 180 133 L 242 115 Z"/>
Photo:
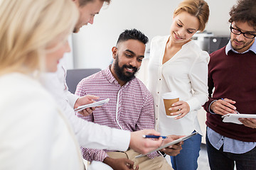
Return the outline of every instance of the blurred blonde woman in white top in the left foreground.
<path id="1" fill-rule="evenodd" d="M 0 169 L 84 169 L 70 125 L 38 81 L 70 51 L 75 4 L 3 0 L 0 18 Z"/>

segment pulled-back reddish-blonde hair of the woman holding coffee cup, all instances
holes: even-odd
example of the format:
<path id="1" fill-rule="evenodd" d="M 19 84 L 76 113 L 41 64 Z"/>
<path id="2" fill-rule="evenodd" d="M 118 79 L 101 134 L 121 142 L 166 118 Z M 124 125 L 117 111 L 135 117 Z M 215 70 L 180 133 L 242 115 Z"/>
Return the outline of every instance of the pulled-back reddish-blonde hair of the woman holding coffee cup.
<path id="1" fill-rule="evenodd" d="M 206 23 L 210 15 L 209 6 L 203 0 L 185 0 L 178 4 L 178 8 L 174 11 L 174 16 L 186 11 L 192 16 L 196 16 L 199 21 L 199 29 L 201 32 L 206 28 Z"/>

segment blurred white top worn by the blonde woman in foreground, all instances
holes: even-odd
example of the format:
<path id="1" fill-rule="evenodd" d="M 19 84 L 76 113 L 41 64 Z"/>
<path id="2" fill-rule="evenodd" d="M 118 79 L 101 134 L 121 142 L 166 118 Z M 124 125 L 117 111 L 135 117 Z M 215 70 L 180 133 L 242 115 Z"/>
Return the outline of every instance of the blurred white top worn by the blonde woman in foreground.
<path id="1" fill-rule="evenodd" d="M 0 94 L 0 169 L 83 169 L 68 120 L 36 79 L 6 74 Z"/>

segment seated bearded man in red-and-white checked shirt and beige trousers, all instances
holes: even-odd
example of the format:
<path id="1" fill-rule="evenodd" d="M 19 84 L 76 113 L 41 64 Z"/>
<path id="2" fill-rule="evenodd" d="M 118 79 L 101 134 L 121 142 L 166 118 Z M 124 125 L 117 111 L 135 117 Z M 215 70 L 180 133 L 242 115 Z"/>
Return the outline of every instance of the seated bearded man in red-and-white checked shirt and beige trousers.
<path id="1" fill-rule="evenodd" d="M 139 30 L 125 30 L 119 35 L 116 47 L 112 47 L 113 64 L 82 79 L 75 92 L 78 96 L 92 94 L 110 101 L 91 115 L 78 115 L 80 118 L 131 132 L 154 128 L 153 98 L 142 81 L 134 77 L 142 64 L 146 42 L 148 38 Z M 135 166 L 139 164 L 142 170 L 172 169 L 157 152 L 139 159 L 134 159 L 139 154 L 132 149 L 113 152 L 82 148 L 82 154 L 90 162 L 104 162 L 113 169 L 126 169 L 127 159 L 134 161 Z"/>

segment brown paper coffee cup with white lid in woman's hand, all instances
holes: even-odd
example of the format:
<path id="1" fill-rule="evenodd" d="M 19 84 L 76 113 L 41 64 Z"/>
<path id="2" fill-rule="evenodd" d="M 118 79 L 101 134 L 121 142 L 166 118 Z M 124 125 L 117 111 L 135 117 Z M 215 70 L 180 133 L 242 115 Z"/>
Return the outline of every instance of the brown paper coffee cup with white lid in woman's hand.
<path id="1" fill-rule="evenodd" d="M 166 111 L 166 116 L 168 118 L 175 118 L 176 116 L 178 115 L 171 115 L 171 113 L 174 113 L 178 110 L 174 110 L 174 111 L 169 111 L 169 108 L 171 108 L 172 104 L 179 101 L 179 97 L 178 97 L 178 94 L 176 91 L 172 91 L 172 92 L 169 92 L 169 93 L 166 93 L 166 94 L 163 94 L 162 96 L 163 100 L 164 100 L 164 108 L 165 108 L 165 111 Z"/>

